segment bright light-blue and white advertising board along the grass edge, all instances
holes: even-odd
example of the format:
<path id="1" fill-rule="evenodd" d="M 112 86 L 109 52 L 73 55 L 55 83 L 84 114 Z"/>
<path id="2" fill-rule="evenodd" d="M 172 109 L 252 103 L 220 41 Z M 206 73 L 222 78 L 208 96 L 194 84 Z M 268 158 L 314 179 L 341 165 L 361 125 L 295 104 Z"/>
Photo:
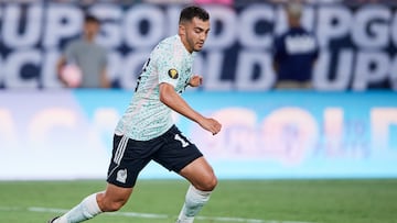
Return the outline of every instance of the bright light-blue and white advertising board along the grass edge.
<path id="1" fill-rule="evenodd" d="M 130 98 L 124 90 L 2 91 L 0 179 L 105 178 L 114 129 Z M 223 124 L 213 136 L 174 115 L 222 179 L 397 177 L 396 92 L 187 91 L 184 98 Z M 140 177 L 178 176 L 153 163 Z"/>

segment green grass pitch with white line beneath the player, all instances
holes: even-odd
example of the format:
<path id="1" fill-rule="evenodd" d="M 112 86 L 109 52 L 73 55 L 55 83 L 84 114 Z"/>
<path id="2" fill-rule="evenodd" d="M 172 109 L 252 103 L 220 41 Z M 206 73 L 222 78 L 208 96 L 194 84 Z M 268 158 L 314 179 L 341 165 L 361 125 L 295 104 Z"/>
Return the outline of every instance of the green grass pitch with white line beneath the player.
<path id="1" fill-rule="evenodd" d="M 103 181 L 0 181 L 0 223 L 45 223 Z M 187 183 L 140 180 L 129 202 L 93 223 L 173 223 Z M 397 179 L 221 180 L 197 223 L 397 223 Z"/>

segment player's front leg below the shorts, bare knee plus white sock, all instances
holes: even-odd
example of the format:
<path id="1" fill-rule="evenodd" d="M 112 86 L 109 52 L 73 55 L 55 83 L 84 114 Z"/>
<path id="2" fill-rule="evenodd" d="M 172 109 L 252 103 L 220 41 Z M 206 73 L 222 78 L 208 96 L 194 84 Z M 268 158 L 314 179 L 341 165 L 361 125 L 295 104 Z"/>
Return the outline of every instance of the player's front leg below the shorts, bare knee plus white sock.
<path id="1" fill-rule="evenodd" d="M 184 167 L 180 172 L 191 186 L 185 196 L 185 202 L 178 216 L 179 223 L 192 223 L 194 216 L 210 200 L 211 192 L 215 189 L 217 179 L 210 164 L 200 157 Z"/>

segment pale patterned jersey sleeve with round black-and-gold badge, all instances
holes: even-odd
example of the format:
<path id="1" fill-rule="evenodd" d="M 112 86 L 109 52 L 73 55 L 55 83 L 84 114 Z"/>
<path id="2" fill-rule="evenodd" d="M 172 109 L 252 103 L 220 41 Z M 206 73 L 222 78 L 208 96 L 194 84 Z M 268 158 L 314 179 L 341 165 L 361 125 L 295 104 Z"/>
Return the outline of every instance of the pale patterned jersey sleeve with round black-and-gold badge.
<path id="1" fill-rule="evenodd" d="M 182 54 L 172 45 L 160 47 L 157 53 L 159 83 L 167 82 L 176 87 L 181 77 Z"/>

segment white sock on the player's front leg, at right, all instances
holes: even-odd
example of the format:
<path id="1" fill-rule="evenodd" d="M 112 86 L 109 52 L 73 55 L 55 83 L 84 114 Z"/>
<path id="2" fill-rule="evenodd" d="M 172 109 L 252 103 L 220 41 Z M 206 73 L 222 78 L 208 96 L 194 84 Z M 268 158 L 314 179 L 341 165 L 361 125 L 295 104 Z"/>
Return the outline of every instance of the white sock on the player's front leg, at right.
<path id="1" fill-rule="evenodd" d="M 192 223 L 194 216 L 200 212 L 203 205 L 210 200 L 212 191 L 201 191 L 190 186 L 186 192 L 185 202 L 179 214 L 179 223 Z"/>

